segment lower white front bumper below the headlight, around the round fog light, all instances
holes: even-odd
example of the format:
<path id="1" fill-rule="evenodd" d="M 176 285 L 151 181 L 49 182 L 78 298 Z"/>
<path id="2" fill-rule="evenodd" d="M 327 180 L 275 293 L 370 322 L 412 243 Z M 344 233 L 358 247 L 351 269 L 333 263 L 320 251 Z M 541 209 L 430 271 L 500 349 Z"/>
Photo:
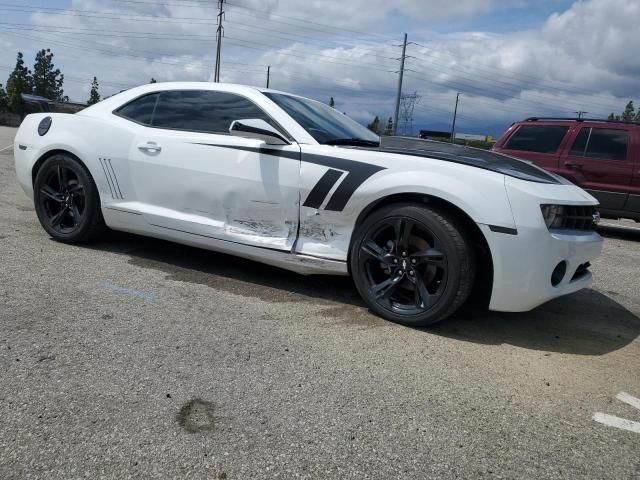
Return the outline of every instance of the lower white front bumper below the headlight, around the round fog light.
<path id="1" fill-rule="evenodd" d="M 602 251 L 595 232 L 549 232 L 518 228 L 517 235 L 492 232 L 480 225 L 493 252 L 493 293 L 489 308 L 524 312 L 551 299 L 588 287 L 591 272 L 578 269 Z M 558 263 L 567 264 L 564 277 L 553 286 L 551 275 Z M 576 275 L 578 272 L 578 275 Z"/>

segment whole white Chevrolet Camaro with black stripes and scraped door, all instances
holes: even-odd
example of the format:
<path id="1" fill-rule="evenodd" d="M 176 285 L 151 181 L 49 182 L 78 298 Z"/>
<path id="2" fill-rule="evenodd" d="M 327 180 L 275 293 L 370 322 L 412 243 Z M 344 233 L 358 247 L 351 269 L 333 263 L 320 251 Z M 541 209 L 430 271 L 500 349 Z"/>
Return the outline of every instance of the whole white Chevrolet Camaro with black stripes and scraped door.
<path id="1" fill-rule="evenodd" d="M 302 274 L 353 277 L 370 309 L 407 325 L 472 292 L 526 311 L 591 282 L 596 200 L 508 156 L 378 137 L 274 90 L 155 83 L 74 115 L 32 114 L 15 166 L 54 239 L 105 229 Z"/>

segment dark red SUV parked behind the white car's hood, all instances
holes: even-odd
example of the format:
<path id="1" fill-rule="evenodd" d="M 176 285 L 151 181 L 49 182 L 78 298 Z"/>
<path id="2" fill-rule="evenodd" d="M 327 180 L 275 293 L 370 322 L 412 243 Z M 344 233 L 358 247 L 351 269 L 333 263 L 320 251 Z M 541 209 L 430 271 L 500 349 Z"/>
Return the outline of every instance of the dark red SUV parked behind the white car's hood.
<path id="1" fill-rule="evenodd" d="M 600 202 L 600 214 L 640 222 L 640 124 L 528 118 L 493 150 L 568 178 Z"/>

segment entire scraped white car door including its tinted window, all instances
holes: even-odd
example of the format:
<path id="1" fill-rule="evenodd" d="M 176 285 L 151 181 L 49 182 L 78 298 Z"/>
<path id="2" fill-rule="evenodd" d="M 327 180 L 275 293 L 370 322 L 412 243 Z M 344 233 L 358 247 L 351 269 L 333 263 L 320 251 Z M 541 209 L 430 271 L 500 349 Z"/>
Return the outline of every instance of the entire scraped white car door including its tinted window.
<path id="1" fill-rule="evenodd" d="M 255 108 L 243 97 L 221 92 L 160 95 L 151 125 L 138 130 L 129 157 L 147 222 L 212 239 L 291 250 L 298 228 L 298 145 L 267 146 L 223 133 L 235 119 L 260 115 L 251 111 Z"/>

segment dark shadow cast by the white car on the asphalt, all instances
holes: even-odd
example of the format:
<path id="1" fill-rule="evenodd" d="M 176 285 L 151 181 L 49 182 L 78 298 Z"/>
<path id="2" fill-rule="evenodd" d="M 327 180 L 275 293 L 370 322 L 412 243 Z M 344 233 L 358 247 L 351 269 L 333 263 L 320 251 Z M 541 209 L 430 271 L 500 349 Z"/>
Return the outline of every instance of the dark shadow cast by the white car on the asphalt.
<path id="1" fill-rule="evenodd" d="M 305 277 L 231 255 L 121 232 L 111 233 L 106 240 L 85 248 L 126 255 L 130 264 L 163 272 L 167 280 L 205 285 L 272 303 L 322 302 L 328 306 L 327 315 L 339 323 L 386 325 L 367 312 L 349 277 Z M 610 297 L 585 289 L 526 313 L 465 306 L 444 322 L 414 330 L 476 344 L 604 355 L 640 335 L 640 318 Z"/>

